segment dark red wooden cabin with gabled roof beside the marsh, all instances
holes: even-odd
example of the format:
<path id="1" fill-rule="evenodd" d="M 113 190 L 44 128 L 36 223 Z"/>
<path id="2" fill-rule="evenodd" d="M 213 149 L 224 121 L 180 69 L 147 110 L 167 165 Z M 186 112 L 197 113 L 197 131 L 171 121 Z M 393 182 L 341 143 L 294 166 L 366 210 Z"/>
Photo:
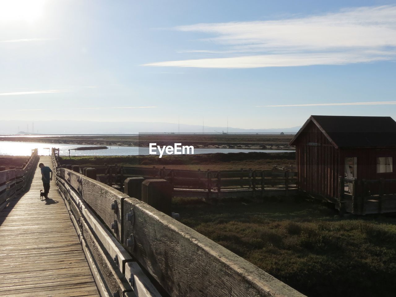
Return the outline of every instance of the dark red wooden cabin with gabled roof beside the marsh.
<path id="1" fill-rule="evenodd" d="M 396 122 L 390 117 L 310 116 L 289 145 L 296 147 L 301 191 L 336 202 L 344 194 L 339 177 L 345 177 L 351 196 L 396 193 Z"/>

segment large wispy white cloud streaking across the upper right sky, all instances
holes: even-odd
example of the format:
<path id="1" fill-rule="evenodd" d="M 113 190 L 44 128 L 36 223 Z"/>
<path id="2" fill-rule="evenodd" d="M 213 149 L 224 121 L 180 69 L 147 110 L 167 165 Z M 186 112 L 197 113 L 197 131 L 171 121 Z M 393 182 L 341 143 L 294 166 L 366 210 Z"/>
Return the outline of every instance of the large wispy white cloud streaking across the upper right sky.
<path id="1" fill-rule="evenodd" d="M 212 35 L 201 41 L 216 44 L 219 49 L 184 52 L 217 56 L 144 66 L 285 67 L 366 63 L 396 57 L 396 6 L 393 5 L 350 8 L 293 19 L 202 23 L 174 29 Z M 251 55 L 253 52 L 256 54 Z"/>

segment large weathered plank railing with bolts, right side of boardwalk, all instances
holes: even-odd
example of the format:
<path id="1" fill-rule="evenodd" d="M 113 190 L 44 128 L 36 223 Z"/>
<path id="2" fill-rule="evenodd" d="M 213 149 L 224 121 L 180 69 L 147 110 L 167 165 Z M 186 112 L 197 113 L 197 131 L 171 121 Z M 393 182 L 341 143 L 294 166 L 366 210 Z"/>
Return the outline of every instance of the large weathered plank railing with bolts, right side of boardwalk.
<path id="1" fill-rule="evenodd" d="M 169 185 L 158 181 L 143 182 L 146 188 L 141 195 L 155 199 L 161 189 L 150 187 Z M 91 269 L 100 272 L 96 280 L 102 296 L 158 296 L 158 291 L 172 297 L 303 296 L 169 215 L 109 185 L 59 167 L 57 184 Z"/>

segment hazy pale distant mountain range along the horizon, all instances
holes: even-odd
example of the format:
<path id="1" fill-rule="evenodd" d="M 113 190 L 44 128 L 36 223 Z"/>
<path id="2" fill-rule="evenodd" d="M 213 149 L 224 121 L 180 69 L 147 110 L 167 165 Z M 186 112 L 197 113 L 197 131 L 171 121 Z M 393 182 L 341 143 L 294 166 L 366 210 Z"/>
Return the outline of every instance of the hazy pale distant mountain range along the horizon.
<path id="1" fill-rule="evenodd" d="M 29 125 L 29 131 L 27 126 Z M 180 127 L 180 128 L 179 128 Z M 241 129 L 228 127 L 229 133 L 296 133 L 301 127 L 278 129 Z M 137 134 L 137 133 L 202 133 L 202 126 L 165 122 L 91 122 L 76 120 L 34 121 L 0 120 L 0 134 Z M 205 133 L 227 131 L 227 127 L 204 126 Z"/>

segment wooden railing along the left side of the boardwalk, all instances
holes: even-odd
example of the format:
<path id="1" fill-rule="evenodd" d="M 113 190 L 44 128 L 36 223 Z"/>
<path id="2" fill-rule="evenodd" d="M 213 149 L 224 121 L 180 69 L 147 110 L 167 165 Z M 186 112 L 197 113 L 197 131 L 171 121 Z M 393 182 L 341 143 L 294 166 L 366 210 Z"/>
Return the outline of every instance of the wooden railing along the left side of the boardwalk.
<path id="1" fill-rule="evenodd" d="M 38 159 L 37 148 L 35 148 L 23 167 L 10 166 L 9 170 L 0 168 L 0 210 L 5 208 L 11 199 L 25 190 L 36 170 Z"/>

